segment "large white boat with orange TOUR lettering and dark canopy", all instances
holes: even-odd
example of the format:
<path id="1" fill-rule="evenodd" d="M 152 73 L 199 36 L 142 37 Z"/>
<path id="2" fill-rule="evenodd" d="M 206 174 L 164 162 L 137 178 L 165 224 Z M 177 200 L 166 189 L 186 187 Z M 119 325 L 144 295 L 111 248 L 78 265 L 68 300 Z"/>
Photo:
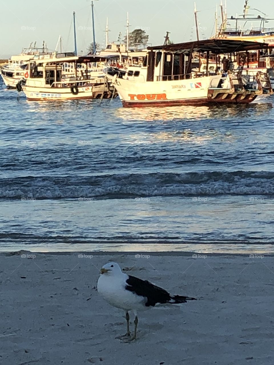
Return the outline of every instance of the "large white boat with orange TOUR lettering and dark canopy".
<path id="1" fill-rule="evenodd" d="M 148 47 L 141 68 L 129 67 L 124 75 L 107 74 L 124 107 L 251 103 L 262 95 L 260 73 L 241 75 L 239 70 L 224 72 L 216 61 L 209 71 L 209 56 L 248 53 L 267 49 L 266 43 L 208 39 Z M 206 53 L 206 70 L 192 70 L 193 54 Z M 273 93 L 268 81 L 268 93 Z"/>

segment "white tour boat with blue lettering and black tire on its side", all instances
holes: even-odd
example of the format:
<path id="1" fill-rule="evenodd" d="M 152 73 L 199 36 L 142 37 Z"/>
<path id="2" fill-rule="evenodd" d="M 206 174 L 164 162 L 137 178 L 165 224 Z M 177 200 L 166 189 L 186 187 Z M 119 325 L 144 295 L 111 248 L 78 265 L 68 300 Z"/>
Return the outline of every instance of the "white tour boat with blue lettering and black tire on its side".
<path id="1" fill-rule="evenodd" d="M 114 88 L 103 73 L 105 61 L 95 55 L 39 56 L 28 62 L 16 88 L 34 101 L 110 98 Z"/>

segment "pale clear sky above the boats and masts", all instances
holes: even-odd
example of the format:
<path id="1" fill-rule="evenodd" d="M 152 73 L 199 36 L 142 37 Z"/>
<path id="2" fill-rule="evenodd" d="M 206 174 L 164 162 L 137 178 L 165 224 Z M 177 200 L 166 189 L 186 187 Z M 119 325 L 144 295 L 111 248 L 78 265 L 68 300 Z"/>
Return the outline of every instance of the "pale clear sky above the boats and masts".
<path id="1" fill-rule="evenodd" d="M 225 0 L 222 0 L 225 3 Z M 196 0 L 200 39 L 214 33 L 214 13 L 218 3 L 220 23 L 220 0 Z M 0 59 L 19 54 L 22 47 L 37 41 L 39 47 L 45 40 L 54 50 L 59 35 L 63 51 L 73 51 L 72 13 L 76 13 L 78 54 L 86 54 L 92 42 L 91 1 L 89 0 L 12 0 L 0 1 Z M 251 8 L 259 9 L 274 18 L 274 1 L 249 0 Z M 243 13 L 244 0 L 227 0 L 227 13 L 236 16 Z M 149 34 L 149 43 L 161 45 L 167 31 L 174 43 L 196 39 L 193 0 L 95 0 L 95 36 L 100 46 L 105 46 L 106 18 L 109 19 L 109 39 L 117 41 L 126 33 L 126 13 L 129 12 L 129 31 L 142 28 Z M 250 14 L 259 12 L 250 9 Z M 255 26 L 255 25 L 254 25 Z M 271 26 L 274 27 L 274 21 Z"/>

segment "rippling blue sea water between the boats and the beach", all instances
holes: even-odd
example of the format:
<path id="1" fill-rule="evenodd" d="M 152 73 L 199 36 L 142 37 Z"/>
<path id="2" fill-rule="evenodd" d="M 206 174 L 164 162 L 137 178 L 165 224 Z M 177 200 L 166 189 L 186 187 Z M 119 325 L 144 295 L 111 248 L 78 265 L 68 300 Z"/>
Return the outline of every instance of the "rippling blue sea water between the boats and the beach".
<path id="1" fill-rule="evenodd" d="M 0 84 L 0 250 L 273 252 L 274 97 L 122 108 Z"/>

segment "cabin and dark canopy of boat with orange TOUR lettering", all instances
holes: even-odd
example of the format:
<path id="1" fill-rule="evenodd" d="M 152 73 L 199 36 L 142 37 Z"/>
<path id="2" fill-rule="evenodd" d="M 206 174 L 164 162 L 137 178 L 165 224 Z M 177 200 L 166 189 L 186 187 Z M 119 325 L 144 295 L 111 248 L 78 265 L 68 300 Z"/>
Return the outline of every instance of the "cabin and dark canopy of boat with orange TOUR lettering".
<path id="1" fill-rule="evenodd" d="M 145 81 L 153 82 L 217 75 L 222 73 L 220 55 L 232 59 L 232 55 L 236 57 L 239 53 L 244 53 L 248 57 L 250 51 L 267 49 L 267 47 L 266 43 L 228 39 L 208 39 L 148 47 L 140 72 L 135 75 L 136 68 L 129 67 L 128 73 L 123 78 L 143 76 Z M 202 58 L 205 64 L 201 61 Z"/>

